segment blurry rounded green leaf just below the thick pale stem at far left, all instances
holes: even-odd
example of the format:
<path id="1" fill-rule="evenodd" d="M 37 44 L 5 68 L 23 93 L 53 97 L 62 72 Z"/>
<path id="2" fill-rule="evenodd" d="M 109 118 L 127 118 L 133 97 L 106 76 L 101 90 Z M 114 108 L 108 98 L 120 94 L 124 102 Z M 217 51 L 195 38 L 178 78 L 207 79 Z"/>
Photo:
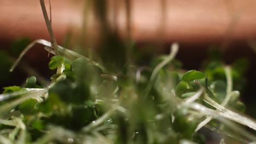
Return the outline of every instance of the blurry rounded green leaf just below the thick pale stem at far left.
<path id="1" fill-rule="evenodd" d="M 19 110 L 23 115 L 33 115 L 37 113 L 37 103 L 38 101 L 35 99 L 28 99 L 19 105 Z"/>

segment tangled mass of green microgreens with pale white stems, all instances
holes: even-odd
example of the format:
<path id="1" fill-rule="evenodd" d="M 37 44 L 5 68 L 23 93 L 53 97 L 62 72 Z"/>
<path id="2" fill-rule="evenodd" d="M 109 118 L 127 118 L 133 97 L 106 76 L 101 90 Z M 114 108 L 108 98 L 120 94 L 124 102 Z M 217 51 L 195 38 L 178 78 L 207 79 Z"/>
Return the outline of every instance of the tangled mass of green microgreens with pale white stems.
<path id="1" fill-rule="evenodd" d="M 55 55 L 48 66 L 56 74 L 44 87 L 35 76 L 28 77 L 24 87 L 4 87 L 0 142 L 205 143 L 199 132 L 203 127 L 232 137 L 232 142 L 256 141 L 241 127 L 256 130 L 256 122 L 241 114 L 245 112 L 239 99 L 244 59 L 225 65 L 220 56 L 211 55 L 201 71 L 186 71 L 175 59 L 178 44 L 174 43 L 170 55 L 152 58 L 148 66 L 125 65 L 126 53 L 120 50 L 114 53 L 121 57 L 121 62 L 113 62 L 115 69 L 110 60 L 102 65 L 57 45 L 51 13 L 49 19 L 44 1 L 40 4 L 51 42 L 40 39 L 28 45 L 10 71 L 40 43 Z M 117 40 L 118 46 L 124 46 Z M 112 54 L 103 59 L 118 60 Z"/>

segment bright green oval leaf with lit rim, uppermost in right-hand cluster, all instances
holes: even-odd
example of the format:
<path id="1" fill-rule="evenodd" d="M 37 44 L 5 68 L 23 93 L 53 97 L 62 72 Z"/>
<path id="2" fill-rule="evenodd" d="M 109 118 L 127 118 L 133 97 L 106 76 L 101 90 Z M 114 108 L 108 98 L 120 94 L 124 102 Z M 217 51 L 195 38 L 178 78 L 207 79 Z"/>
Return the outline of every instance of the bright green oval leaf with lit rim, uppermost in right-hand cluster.
<path id="1" fill-rule="evenodd" d="M 183 81 L 193 81 L 197 79 L 203 79 L 206 75 L 200 71 L 190 70 L 182 76 Z"/>

